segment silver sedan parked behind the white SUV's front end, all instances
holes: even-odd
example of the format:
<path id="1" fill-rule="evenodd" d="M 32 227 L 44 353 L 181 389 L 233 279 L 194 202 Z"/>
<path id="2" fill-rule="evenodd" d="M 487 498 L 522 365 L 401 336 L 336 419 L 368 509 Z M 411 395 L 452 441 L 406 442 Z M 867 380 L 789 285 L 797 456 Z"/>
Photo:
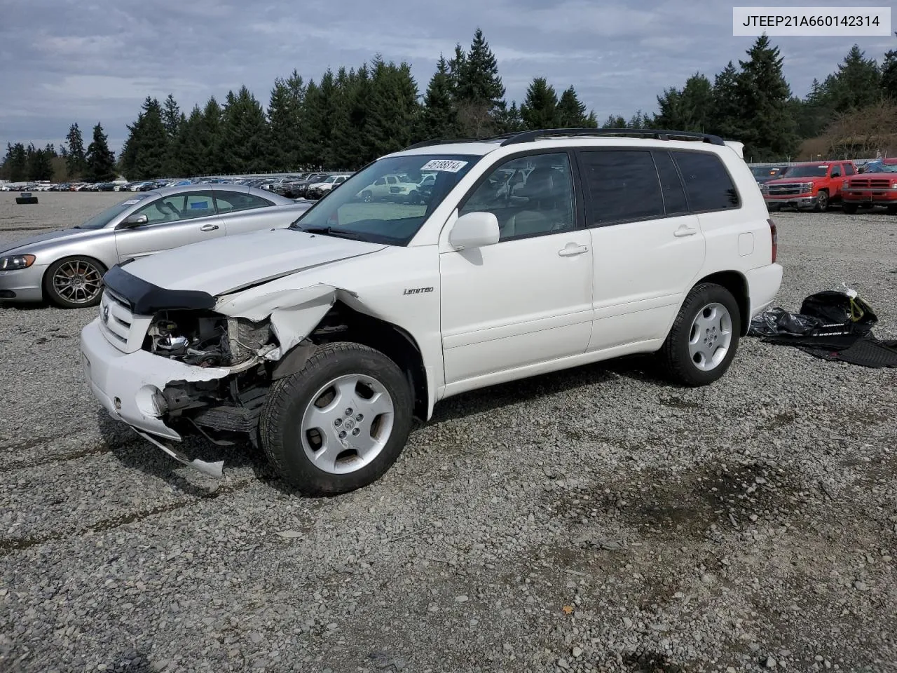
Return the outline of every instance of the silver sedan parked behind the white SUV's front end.
<path id="1" fill-rule="evenodd" d="M 0 302 L 100 302 L 102 277 L 126 259 L 220 236 L 285 228 L 313 205 L 245 185 L 138 192 L 72 229 L 0 250 Z"/>

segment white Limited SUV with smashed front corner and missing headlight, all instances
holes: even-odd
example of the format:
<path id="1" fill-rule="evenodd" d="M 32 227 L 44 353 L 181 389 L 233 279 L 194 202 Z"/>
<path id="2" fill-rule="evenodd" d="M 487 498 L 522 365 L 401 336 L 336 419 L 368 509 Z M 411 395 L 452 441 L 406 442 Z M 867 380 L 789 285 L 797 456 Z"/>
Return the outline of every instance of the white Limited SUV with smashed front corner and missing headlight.
<path id="1" fill-rule="evenodd" d="M 301 493 L 337 494 L 466 390 L 635 353 L 718 380 L 779 291 L 775 225 L 738 144 L 627 134 L 414 145 L 288 229 L 113 267 L 82 332 L 93 392 L 209 474 L 172 442 L 242 433 Z M 426 203 L 355 198 L 422 172 Z"/>

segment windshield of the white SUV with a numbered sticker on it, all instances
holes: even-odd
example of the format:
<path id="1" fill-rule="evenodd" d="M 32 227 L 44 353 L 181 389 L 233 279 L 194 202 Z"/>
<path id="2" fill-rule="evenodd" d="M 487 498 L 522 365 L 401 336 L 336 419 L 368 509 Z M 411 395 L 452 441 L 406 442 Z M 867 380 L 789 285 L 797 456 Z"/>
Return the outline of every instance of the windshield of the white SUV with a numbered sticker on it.
<path id="1" fill-rule="evenodd" d="M 300 215 L 290 229 L 371 243 L 406 245 L 479 156 L 411 154 L 380 159 L 346 179 Z M 422 171 L 434 175 L 419 189 Z M 396 175 L 411 180 L 400 182 Z"/>

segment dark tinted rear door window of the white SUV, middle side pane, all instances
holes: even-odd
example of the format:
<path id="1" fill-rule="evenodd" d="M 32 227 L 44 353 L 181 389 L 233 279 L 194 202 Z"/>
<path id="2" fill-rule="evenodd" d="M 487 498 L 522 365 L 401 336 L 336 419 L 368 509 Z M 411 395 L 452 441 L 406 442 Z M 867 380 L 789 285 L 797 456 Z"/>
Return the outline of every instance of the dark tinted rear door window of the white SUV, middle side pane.
<path id="1" fill-rule="evenodd" d="M 664 216 L 658 170 L 648 150 L 580 153 L 582 175 L 600 226 Z"/>

